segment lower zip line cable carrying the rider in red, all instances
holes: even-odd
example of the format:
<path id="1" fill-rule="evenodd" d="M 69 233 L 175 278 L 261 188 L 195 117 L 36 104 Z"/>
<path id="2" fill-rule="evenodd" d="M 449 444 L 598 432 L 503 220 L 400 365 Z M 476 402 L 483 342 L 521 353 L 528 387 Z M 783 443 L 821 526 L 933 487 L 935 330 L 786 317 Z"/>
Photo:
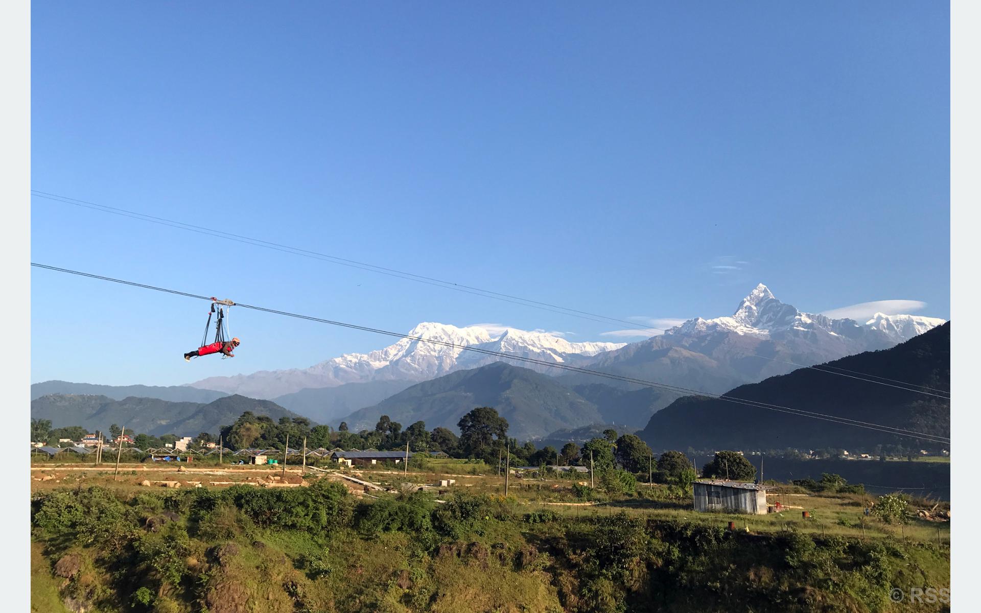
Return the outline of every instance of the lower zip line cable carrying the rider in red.
<path id="1" fill-rule="evenodd" d="M 31 262 L 30 265 L 33 266 L 33 267 L 36 267 L 36 268 L 42 268 L 42 269 L 47 269 L 47 270 L 56 271 L 56 272 L 60 272 L 60 273 L 68 273 L 68 274 L 72 274 L 72 275 L 78 275 L 78 276 L 81 276 L 81 277 L 87 277 L 89 279 L 97 279 L 97 280 L 101 280 L 101 281 L 112 281 L 112 282 L 122 283 L 122 284 L 125 284 L 125 285 L 132 285 L 132 286 L 135 286 L 135 287 L 141 287 L 141 288 L 145 288 L 145 289 L 154 289 L 154 290 L 164 291 L 164 292 L 167 292 L 167 293 L 172 293 L 172 294 L 176 294 L 176 295 L 180 295 L 180 296 L 185 296 L 185 297 L 188 297 L 188 298 L 197 298 L 199 300 L 209 300 L 209 301 L 211 300 L 211 297 L 209 297 L 209 296 L 203 296 L 203 295 L 198 295 L 198 294 L 187 293 L 187 292 L 178 291 L 178 290 L 175 290 L 175 289 L 168 289 L 168 288 L 165 288 L 165 287 L 158 287 L 158 286 L 155 286 L 155 285 L 148 285 L 148 284 L 144 284 L 144 283 L 137 283 L 137 282 L 134 282 L 134 281 L 124 281 L 124 280 L 121 280 L 121 279 L 114 279 L 112 277 L 103 277 L 101 275 L 93 275 L 91 273 L 82 273 L 80 271 L 74 271 L 74 270 L 71 270 L 71 269 L 59 268 L 59 267 L 55 267 L 55 266 L 48 266 L 46 264 L 37 264 L 37 263 L 34 263 L 34 262 Z M 683 386 L 680 386 L 680 385 L 672 385 L 672 384 L 668 384 L 668 383 L 656 383 L 656 382 L 645 381 L 645 380 L 642 380 L 642 379 L 635 379 L 635 378 L 632 378 L 632 377 L 625 377 L 625 376 L 622 376 L 622 375 L 614 375 L 612 373 L 602 373 L 600 371 L 594 371 L 592 369 L 586 369 L 586 368 L 581 368 L 581 367 L 576 367 L 576 366 L 570 366 L 568 364 L 556 364 L 556 363 L 553 363 L 553 362 L 547 362 L 547 361 L 539 360 L 539 359 L 536 359 L 536 358 L 529 358 L 529 357 L 524 357 L 524 356 L 510 355 L 510 354 L 507 354 L 507 353 L 502 353 L 500 351 L 493 351 L 493 350 L 484 349 L 484 348 L 481 348 L 481 347 L 474 347 L 474 346 L 468 346 L 468 345 L 457 345 L 457 344 L 452 343 L 452 342 L 447 342 L 447 341 L 443 341 L 443 340 L 437 340 L 435 338 L 425 338 L 425 337 L 422 337 L 422 336 L 414 336 L 414 335 L 411 335 L 411 334 L 402 334 L 402 333 L 399 333 L 399 332 L 389 332 L 389 331 L 381 330 L 381 329 L 377 329 L 377 328 L 369 328 L 369 327 L 366 327 L 366 326 L 358 326 L 358 325 L 355 325 L 355 324 L 348 324 L 348 323 L 345 323 L 345 322 L 336 322 L 336 321 L 333 321 L 333 320 L 327 320 L 327 319 L 323 319 L 323 318 L 319 318 L 319 317 L 313 317 L 313 316 L 310 316 L 310 315 L 302 315 L 302 314 L 298 314 L 298 313 L 290 313 L 288 311 L 280 311 L 280 310 L 277 310 L 277 309 L 270 309 L 270 308 L 260 307 L 260 306 L 256 306 L 256 305 L 244 304 L 244 303 L 241 303 L 241 302 L 236 302 L 235 303 L 235 306 L 238 306 L 238 307 L 241 307 L 241 308 L 244 308 L 244 309 L 252 309 L 252 310 L 255 310 L 255 311 L 262 311 L 262 312 L 265 312 L 265 313 L 272 313 L 272 314 L 276 314 L 276 315 L 283 315 L 285 317 L 292 317 L 292 318 L 307 320 L 307 321 L 311 321 L 311 322 L 318 322 L 318 323 L 321 323 L 321 324 L 328 324 L 328 325 L 331 325 L 331 326 L 337 326 L 337 327 L 347 328 L 347 329 L 351 329 L 351 330 L 359 330 L 359 331 L 362 331 L 362 332 L 374 332 L 374 333 L 378 333 L 378 334 L 384 334 L 384 335 L 387 335 L 387 336 L 393 336 L 393 337 L 396 337 L 396 338 L 408 338 L 410 340 L 417 340 L 417 341 L 420 341 L 420 342 L 428 342 L 428 343 L 432 343 L 432 344 L 438 344 L 438 345 L 442 345 L 442 346 L 446 346 L 446 347 L 460 349 L 460 350 L 463 350 L 463 351 L 472 351 L 472 352 L 475 352 L 475 353 L 481 353 L 481 354 L 485 354 L 485 355 L 496 356 L 496 357 L 500 357 L 500 358 L 504 358 L 504 359 L 508 359 L 508 360 L 514 360 L 514 361 L 518 361 L 518 362 L 523 362 L 523 363 L 527 363 L 527 364 L 536 364 L 536 365 L 540 365 L 540 366 L 546 366 L 546 367 L 550 367 L 550 368 L 558 368 L 558 369 L 562 369 L 562 370 L 566 370 L 566 371 L 570 371 L 570 372 L 575 372 L 575 373 L 581 373 L 581 374 L 585 374 L 585 375 L 592 375 L 592 376 L 595 376 L 595 377 L 602 377 L 602 378 L 605 378 L 605 379 L 610 379 L 610 380 L 614 380 L 614 381 L 620 381 L 620 382 L 623 382 L 623 383 L 635 383 L 635 384 L 643 385 L 643 386 L 646 386 L 646 387 L 656 387 L 656 388 L 659 388 L 659 389 L 665 389 L 665 390 L 668 390 L 668 391 L 673 391 L 673 392 L 681 393 L 681 394 L 685 394 L 685 395 L 699 395 L 699 396 L 714 398 L 714 399 L 717 399 L 717 400 L 723 400 L 723 401 L 726 401 L 726 402 L 733 402 L 733 403 L 736 403 L 736 404 L 743 404 L 743 405 L 750 406 L 750 407 L 762 408 L 762 409 L 767 409 L 767 410 L 771 410 L 771 411 L 777 411 L 777 412 L 780 412 L 780 413 L 788 413 L 790 415 L 798 415 L 800 417 L 808 417 L 808 418 L 812 418 L 812 419 L 819 419 L 819 420 L 833 422 L 833 423 L 842 424 L 842 425 L 846 425 L 846 426 L 854 426 L 856 428 L 865 428 L 867 430 L 874 430 L 874 431 L 882 432 L 882 433 L 886 433 L 886 434 L 896 434 L 896 435 L 900 435 L 900 436 L 909 436 L 911 438 L 919 438 L 919 439 L 922 439 L 922 440 L 929 440 L 931 442 L 939 442 L 939 443 L 950 444 L 950 438 L 949 437 L 940 436 L 938 434 L 918 433 L 918 432 L 915 432 L 915 431 L 905 430 L 905 429 L 901 429 L 901 428 L 896 428 L 896 427 L 893 427 L 893 426 L 884 426 L 884 425 L 881 425 L 881 424 L 874 424 L 874 423 L 871 423 L 871 422 L 862 422 L 862 421 L 859 421 L 859 420 L 852 420 L 852 419 L 849 419 L 849 418 L 839 417 L 839 416 L 835 416 L 835 415 L 828 415 L 828 414 L 824 414 L 824 413 L 817 413 L 815 411 L 806 411 L 806 410 L 803 410 L 803 409 L 795 409 L 793 407 L 787 407 L 787 406 L 783 406 L 783 405 L 777 405 L 777 404 L 770 404 L 770 403 L 765 403 L 765 402 L 759 402 L 759 401 L 756 401 L 756 400 L 749 400 L 749 399 L 745 399 L 745 398 L 737 398 L 737 397 L 734 397 L 734 396 L 727 396 L 725 394 L 716 394 L 716 393 L 711 393 L 711 392 L 705 392 L 705 391 L 700 391 L 700 390 L 697 390 L 697 389 L 692 389 L 692 388 L 689 388 L 689 387 L 683 387 Z"/>

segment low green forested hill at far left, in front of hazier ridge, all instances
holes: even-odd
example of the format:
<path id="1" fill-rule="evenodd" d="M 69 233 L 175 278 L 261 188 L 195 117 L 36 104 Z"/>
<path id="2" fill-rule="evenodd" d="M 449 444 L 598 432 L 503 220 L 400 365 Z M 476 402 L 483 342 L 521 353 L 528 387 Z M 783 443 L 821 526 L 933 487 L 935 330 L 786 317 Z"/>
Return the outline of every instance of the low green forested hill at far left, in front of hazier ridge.
<path id="1" fill-rule="evenodd" d="M 207 404 L 137 397 L 114 400 L 82 394 L 49 394 L 30 402 L 30 417 L 51 420 L 54 428 L 81 426 L 89 432 L 107 432 L 109 426 L 117 424 L 125 426 L 127 432 L 153 436 L 217 434 L 220 427 L 234 423 L 245 411 L 268 415 L 274 420 L 300 417 L 270 400 L 240 395 L 225 396 Z"/>

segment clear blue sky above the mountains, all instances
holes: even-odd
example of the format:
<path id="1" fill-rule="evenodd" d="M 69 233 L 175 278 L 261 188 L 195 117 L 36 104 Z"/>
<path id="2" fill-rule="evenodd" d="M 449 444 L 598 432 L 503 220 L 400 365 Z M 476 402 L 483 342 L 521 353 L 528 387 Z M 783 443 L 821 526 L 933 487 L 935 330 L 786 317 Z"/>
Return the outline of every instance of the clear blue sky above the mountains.
<path id="1" fill-rule="evenodd" d="M 950 315 L 945 3 L 34 3 L 34 189 L 617 318 Z M 603 325 L 32 198 L 33 261 L 408 331 Z M 390 342 L 34 271 L 31 381 Z M 911 303 L 912 304 L 912 303 Z M 913 304 L 913 306 L 919 306 Z M 641 321 L 641 320 L 638 320 Z M 622 328 L 622 327 L 620 327 Z"/>

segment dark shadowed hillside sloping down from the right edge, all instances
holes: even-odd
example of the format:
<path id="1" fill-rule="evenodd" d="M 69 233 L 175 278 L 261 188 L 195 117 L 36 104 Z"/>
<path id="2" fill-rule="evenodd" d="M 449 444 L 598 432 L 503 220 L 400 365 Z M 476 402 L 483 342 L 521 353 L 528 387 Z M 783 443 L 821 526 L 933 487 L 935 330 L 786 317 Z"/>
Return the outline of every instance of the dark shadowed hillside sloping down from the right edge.
<path id="1" fill-rule="evenodd" d="M 890 349 L 859 353 L 822 366 L 949 391 L 951 324 Z M 951 405 L 947 399 L 814 369 L 742 385 L 726 395 L 922 434 L 951 435 Z M 676 400 L 655 413 L 638 434 L 655 450 L 871 449 L 876 444 L 902 444 L 916 449 L 948 447 L 703 396 Z"/>

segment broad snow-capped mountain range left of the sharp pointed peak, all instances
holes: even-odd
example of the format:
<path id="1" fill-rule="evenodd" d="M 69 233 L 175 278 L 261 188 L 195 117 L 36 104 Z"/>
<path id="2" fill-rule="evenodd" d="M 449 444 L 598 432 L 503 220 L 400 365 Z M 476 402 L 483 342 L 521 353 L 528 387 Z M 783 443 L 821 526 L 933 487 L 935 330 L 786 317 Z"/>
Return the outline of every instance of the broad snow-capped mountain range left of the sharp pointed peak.
<path id="1" fill-rule="evenodd" d="M 479 326 L 457 328 L 424 322 L 394 344 L 370 353 L 346 353 L 306 369 L 260 371 L 251 375 L 212 377 L 191 386 L 218 389 L 251 397 L 274 398 L 303 388 L 333 387 L 344 383 L 373 381 L 422 382 L 461 369 L 473 369 L 500 358 L 465 350 L 475 347 L 551 363 L 583 363 L 625 343 L 569 342 L 545 332 L 508 328 L 490 332 Z M 436 344 L 420 338 L 439 341 Z M 544 371 L 547 367 L 524 365 Z"/>

